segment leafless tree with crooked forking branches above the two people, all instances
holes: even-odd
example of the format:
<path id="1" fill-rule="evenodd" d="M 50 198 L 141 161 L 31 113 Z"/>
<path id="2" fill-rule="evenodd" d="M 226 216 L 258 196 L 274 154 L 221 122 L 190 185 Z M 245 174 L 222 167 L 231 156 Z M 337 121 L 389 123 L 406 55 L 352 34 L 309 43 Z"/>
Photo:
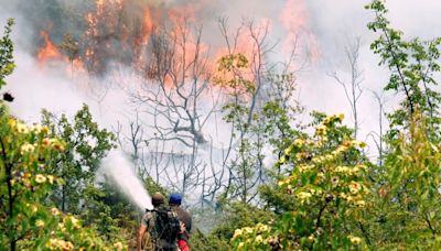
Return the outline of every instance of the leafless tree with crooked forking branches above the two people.
<path id="1" fill-rule="evenodd" d="M 190 29 L 185 18 L 173 30 L 159 31 L 151 39 L 146 83 L 132 94 L 133 101 L 150 119 L 146 126 L 154 132 L 148 142 L 164 143 L 163 151 L 151 152 L 150 157 L 159 160 L 153 155 L 160 154 L 168 159 L 161 176 L 182 194 L 197 187 L 204 176 L 206 164 L 201 160 L 200 148 L 206 148 L 208 141 L 203 128 L 218 102 L 218 97 L 209 99 L 211 69 L 201 37 L 202 28 Z"/>

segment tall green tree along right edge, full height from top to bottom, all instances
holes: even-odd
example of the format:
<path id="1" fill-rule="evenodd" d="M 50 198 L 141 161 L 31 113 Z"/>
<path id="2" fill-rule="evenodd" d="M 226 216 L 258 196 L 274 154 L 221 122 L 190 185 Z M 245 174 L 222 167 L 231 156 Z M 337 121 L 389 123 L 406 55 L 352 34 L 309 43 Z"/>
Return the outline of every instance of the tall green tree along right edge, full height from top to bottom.
<path id="1" fill-rule="evenodd" d="M 402 32 L 390 28 L 383 0 L 366 8 L 375 13 L 368 28 L 380 33 L 370 47 L 390 69 L 385 90 L 405 97 L 388 114 L 384 166 L 373 172 L 377 209 L 370 211 L 369 231 L 376 248 L 439 249 L 441 96 L 435 76 L 441 39 L 406 41 Z"/>

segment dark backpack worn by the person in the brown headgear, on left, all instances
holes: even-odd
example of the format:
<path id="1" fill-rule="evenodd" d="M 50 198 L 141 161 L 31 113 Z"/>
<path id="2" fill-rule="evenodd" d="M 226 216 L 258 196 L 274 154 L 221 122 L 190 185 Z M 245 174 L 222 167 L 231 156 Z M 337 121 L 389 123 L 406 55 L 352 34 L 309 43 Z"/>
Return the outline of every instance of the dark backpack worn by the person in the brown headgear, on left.
<path id="1" fill-rule="evenodd" d="M 164 206 L 154 208 L 151 211 L 154 215 L 154 227 L 151 230 L 152 238 L 157 243 L 160 243 L 159 240 L 162 240 L 175 245 L 179 232 L 181 231 L 178 215 L 170 207 Z"/>

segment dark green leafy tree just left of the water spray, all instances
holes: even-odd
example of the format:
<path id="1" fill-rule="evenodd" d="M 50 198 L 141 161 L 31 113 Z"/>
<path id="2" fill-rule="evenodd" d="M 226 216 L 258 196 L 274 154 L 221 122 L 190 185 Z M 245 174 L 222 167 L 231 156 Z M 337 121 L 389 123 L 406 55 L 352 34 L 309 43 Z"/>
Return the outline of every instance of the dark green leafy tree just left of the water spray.
<path id="1" fill-rule="evenodd" d="M 42 121 L 52 130 L 53 137 L 65 142 L 65 151 L 53 155 L 49 165 L 53 174 L 65 181 L 55 189 L 52 199 L 63 211 L 80 214 L 89 205 L 84 192 L 94 186 L 100 160 L 115 148 L 115 135 L 99 129 L 87 106 L 83 106 L 73 121 L 64 114 L 58 119 L 49 111 L 43 111 Z M 85 208 L 79 207 L 82 199 Z"/>

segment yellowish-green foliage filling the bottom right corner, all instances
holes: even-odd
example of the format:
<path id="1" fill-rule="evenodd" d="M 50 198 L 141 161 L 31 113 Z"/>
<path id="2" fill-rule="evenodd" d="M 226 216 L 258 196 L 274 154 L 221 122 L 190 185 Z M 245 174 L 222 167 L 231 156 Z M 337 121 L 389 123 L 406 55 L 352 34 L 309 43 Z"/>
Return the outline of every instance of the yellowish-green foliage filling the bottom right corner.
<path id="1" fill-rule="evenodd" d="M 380 248 L 441 248 L 441 153 L 426 131 L 426 119 L 416 113 L 409 130 L 390 142 L 370 229 Z"/>

